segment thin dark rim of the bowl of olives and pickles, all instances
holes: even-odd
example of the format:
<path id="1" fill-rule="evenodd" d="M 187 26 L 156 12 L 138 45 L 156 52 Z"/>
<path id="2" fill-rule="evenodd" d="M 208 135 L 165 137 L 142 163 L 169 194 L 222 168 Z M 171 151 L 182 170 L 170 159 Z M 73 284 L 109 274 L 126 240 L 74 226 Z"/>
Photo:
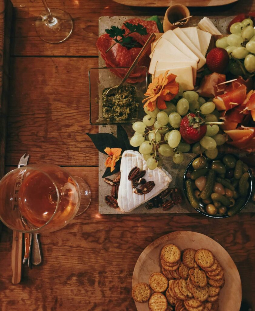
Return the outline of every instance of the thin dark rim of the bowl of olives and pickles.
<path id="1" fill-rule="evenodd" d="M 223 157 L 224 155 L 228 155 L 228 154 L 231 154 L 232 156 L 234 156 L 237 160 L 240 160 L 239 159 L 239 157 L 238 156 L 236 156 L 235 154 L 233 154 L 233 153 L 219 153 L 218 154 L 218 156 L 220 156 L 220 157 Z M 218 158 L 218 156 L 217 156 L 217 158 Z M 185 193 L 185 196 L 186 196 L 186 198 L 187 198 L 187 200 L 188 200 L 188 202 L 189 202 L 189 199 L 188 199 L 188 196 L 187 196 L 187 192 L 186 192 L 186 186 L 185 186 L 185 181 L 186 181 L 186 174 L 187 174 L 187 172 L 188 172 L 188 170 L 189 170 L 189 168 L 190 168 L 190 166 L 191 166 L 191 164 L 192 164 L 192 162 L 195 160 L 195 159 L 197 159 L 198 157 L 200 157 L 200 154 L 198 154 L 198 155 L 196 155 L 190 162 L 189 162 L 189 164 L 187 165 L 187 167 L 186 167 L 186 169 L 185 169 L 185 171 L 184 171 L 184 175 L 183 175 L 183 190 L 184 190 L 184 193 Z M 208 159 L 208 158 L 207 158 Z M 215 159 L 209 159 L 209 160 L 215 160 Z M 247 193 L 247 196 L 246 196 L 246 201 L 245 201 L 245 203 L 244 203 L 244 206 L 239 210 L 239 212 L 240 211 L 242 211 L 242 209 L 247 205 L 247 203 L 249 202 L 249 199 L 250 199 L 250 197 L 251 197 L 251 195 L 252 195 L 252 188 L 253 188 L 253 181 L 252 181 L 252 172 L 251 172 L 251 169 L 249 168 L 248 169 L 248 173 L 249 173 L 249 176 L 250 176 L 250 182 L 249 182 L 249 184 L 250 184 L 250 190 L 248 191 L 248 193 Z M 189 202 L 189 204 L 190 204 L 190 202 Z M 194 208 L 196 211 L 198 211 L 199 213 L 201 213 L 201 214 L 203 214 L 204 216 L 207 216 L 207 217 L 211 217 L 211 218 L 228 218 L 228 217 L 231 217 L 231 216 L 229 216 L 228 214 L 225 214 L 225 215 L 209 215 L 209 214 L 207 214 L 205 211 L 202 211 L 202 210 L 200 210 L 199 208 Z M 238 213 L 239 213 L 238 212 Z M 238 214 L 237 213 L 237 214 Z"/>

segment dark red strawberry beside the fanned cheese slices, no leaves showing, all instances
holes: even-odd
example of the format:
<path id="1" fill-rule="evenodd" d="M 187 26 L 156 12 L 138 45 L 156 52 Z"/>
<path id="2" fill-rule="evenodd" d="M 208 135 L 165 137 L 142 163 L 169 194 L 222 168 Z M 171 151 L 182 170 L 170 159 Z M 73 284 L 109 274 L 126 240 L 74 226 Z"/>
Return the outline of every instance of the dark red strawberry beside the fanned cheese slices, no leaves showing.
<path id="1" fill-rule="evenodd" d="M 228 63 L 229 56 L 225 49 L 214 48 L 207 54 L 206 64 L 211 72 L 224 72 L 228 67 Z"/>

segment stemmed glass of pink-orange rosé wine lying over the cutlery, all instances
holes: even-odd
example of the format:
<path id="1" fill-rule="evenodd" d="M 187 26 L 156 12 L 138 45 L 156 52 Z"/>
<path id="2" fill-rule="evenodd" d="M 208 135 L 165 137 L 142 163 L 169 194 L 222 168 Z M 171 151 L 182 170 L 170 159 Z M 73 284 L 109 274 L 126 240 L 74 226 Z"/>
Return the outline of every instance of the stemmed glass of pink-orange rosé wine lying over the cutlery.
<path id="1" fill-rule="evenodd" d="M 87 183 L 57 165 L 27 165 L 0 181 L 0 219 L 21 232 L 59 230 L 82 214 L 90 200 Z"/>

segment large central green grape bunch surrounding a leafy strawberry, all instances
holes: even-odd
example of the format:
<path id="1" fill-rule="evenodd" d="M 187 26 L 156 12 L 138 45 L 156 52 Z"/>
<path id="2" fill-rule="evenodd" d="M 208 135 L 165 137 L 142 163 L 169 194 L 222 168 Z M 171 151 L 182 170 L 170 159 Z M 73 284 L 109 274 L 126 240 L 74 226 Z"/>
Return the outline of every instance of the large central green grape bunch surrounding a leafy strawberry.
<path id="1" fill-rule="evenodd" d="M 134 136 L 130 139 L 131 146 L 138 147 L 139 152 L 147 161 L 149 169 L 155 169 L 162 163 L 162 156 L 173 157 L 176 164 L 181 164 L 184 160 L 184 153 L 192 152 L 206 153 L 210 159 L 216 158 L 218 150 L 216 146 L 225 142 L 225 137 L 220 132 L 216 124 L 207 124 L 206 136 L 200 142 L 190 146 L 184 142 L 179 128 L 183 117 L 190 112 L 200 111 L 204 115 L 205 122 L 218 122 L 219 112 L 215 110 L 215 104 L 206 102 L 203 97 L 199 97 L 195 91 L 184 92 L 180 86 L 179 93 L 174 100 L 166 102 L 166 109 L 148 111 L 145 107 L 146 115 L 143 121 L 133 124 Z"/>

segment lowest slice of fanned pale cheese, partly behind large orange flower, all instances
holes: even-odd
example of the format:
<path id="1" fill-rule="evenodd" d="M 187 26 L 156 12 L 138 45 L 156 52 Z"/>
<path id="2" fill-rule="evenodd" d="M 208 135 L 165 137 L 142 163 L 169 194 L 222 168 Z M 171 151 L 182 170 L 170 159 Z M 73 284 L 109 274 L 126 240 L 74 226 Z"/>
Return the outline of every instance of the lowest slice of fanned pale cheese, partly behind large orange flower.
<path id="1" fill-rule="evenodd" d="M 165 69 L 156 70 L 154 72 L 154 77 L 158 77 L 161 73 L 164 74 L 165 72 Z M 180 83 L 184 91 L 194 90 L 193 73 L 191 66 L 171 68 L 171 73 L 177 76 L 175 81 Z"/>

